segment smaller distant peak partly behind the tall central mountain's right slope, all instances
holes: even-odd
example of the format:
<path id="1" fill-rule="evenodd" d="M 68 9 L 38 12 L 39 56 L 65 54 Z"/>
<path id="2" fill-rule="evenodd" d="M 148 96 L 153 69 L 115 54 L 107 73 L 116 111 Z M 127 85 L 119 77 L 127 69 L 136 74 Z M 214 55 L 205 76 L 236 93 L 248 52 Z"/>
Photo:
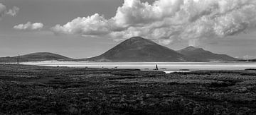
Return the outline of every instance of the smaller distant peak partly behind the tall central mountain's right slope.
<path id="1" fill-rule="evenodd" d="M 184 49 L 178 50 L 185 56 L 196 59 L 196 61 L 236 61 L 238 59 L 228 56 L 226 54 L 214 54 L 212 52 L 206 51 L 202 48 L 197 47 L 186 47 Z"/>

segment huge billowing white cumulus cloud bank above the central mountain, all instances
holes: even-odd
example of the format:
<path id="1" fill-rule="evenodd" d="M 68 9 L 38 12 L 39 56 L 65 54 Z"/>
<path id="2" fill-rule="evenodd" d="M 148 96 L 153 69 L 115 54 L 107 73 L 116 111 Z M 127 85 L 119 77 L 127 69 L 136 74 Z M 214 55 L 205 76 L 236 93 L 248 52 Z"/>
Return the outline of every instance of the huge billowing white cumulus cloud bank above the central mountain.
<path id="1" fill-rule="evenodd" d="M 124 0 L 110 19 L 95 14 L 55 25 L 53 32 L 106 36 L 114 40 L 142 36 L 161 44 L 237 35 L 256 26 L 255 0 Z"/>

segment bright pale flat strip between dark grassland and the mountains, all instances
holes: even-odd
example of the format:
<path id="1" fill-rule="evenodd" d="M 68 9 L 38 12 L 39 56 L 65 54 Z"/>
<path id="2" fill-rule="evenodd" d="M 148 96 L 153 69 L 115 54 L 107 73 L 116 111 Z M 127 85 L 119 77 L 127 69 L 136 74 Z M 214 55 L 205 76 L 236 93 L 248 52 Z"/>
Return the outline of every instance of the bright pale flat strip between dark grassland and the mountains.
<path id="1" fill-rule="evenodd" d="M 244 70 L 256 68 L 252 62 L 87 62 L 87 61 L 41 61 L 26 62 L 22 64 L 37 66 L 68 66 L 80 68 L 138 68 L 142 71 L 151 71 L 156 68 L 159 71 L 197 71 L 197 70 Z M 183 70 L 185 69 L 185 70 Z"/>

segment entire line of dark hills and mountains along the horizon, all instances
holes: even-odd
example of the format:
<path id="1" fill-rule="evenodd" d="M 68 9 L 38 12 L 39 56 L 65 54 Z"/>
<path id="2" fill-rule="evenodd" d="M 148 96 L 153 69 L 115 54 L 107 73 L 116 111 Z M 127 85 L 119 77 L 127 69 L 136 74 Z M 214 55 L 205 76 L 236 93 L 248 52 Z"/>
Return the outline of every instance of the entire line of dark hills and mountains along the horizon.
<path id="1" fill-rule="evenodd" d="M 0 62 L 16 62 L 18 56 L 2 57 Z M 20 61 L 109 61 L 109 62 L 207 62 L 236 61 L 226 54 L 214 54 L 202 48 L 186 47 L 174 51 L 142 37 L 132 37 L 100 56 L 88 59 L 71 59 L 59 54 L 39 52 L 20 56 Z"/>

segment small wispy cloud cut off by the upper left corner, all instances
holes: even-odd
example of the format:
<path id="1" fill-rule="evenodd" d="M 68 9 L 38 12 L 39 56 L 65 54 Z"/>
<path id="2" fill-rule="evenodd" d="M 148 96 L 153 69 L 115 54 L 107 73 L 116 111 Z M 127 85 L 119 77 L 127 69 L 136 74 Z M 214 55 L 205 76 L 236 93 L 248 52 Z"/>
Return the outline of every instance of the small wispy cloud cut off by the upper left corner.
<path id="1" fill-rule="evenodd" d="M 7 10 L 6 6 L 4 4 L 0 3 L 0 18 L 4 15 L 9 15 L 9 16 L 16 16 L 19 11 L 19 8 L 14 6 L 13 8 Z"/>

